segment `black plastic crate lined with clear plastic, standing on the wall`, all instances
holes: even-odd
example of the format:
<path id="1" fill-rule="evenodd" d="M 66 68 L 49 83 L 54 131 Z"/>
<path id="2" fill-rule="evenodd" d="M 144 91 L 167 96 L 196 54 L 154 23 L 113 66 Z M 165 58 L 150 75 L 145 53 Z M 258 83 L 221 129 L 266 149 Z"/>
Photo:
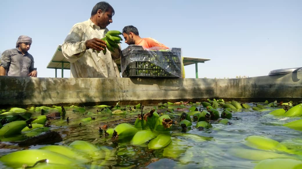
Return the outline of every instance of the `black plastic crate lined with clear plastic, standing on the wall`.
<path id="1" fill-rule="evenodd" d="M 171 51 L 145 51 L 142 46 L 130 45 L 122 51 L 121 64 L 124 67 L 123 77 L 181 77 L 181 49 Z M 167 72 L 162 67 L 169 68 Z M 123 69 L 123 68 L 122 68 Z"/>

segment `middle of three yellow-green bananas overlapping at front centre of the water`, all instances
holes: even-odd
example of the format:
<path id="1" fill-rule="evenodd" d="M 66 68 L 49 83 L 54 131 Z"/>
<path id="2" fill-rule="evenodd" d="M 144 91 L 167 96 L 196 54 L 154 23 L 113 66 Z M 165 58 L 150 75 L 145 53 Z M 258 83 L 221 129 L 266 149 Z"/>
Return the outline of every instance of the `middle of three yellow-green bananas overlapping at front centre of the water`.
<path id="1" fill-rule="evenodd" d="M 130 141 L 133 145 L 141 145 L 146 143 L 147 141 L 156 137 L 156 134 L 153 133 L 151 130 L 141 130 L 138 131 Z"/>

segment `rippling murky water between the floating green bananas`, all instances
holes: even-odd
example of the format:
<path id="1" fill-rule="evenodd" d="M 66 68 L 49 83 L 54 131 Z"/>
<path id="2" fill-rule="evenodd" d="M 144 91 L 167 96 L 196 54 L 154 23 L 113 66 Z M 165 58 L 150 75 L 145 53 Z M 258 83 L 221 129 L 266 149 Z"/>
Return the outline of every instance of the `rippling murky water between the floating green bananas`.
<path id="1" fill-rule="evenodd" d="M 145 106 L 143 112 L 149 112 L 153 106 L 156 105 Z M 200 105 L 195 105 L 195 107 L 204 109 Z M 158 112 L 168 114 L 179 122 L 180 115 L 182 112 L 188 112 L 188 108 L 190 108 L 189 105 L 179 109 L 181 111 L 174 109 L 174 112 L 160 110 Z M 234 153 L 239 148 L 251 149 L 243 142 L 246 137 L 252 135 L 265 136 L 283 142 L 289 148 L 302 152 L 301 131 L 282 126 L 286 122 L 300 118 L 266 115 L 271 111 L 258 112 L 252 109 L 233 111 L 233 118 L 229 120 L 231 125 L 211 121 L 212 127 L 203 130 L 191 127 L 186 132 L 182 132 L 181 128 L 175 124 L 170 132 L 172 136 L 170 145 L 162 149 L 150 150 L 148 147 L 133 146 L 130 142 L 113 143 L 110 138 L 106 138 L 103 133 L 99 132 L 99 127 L 105 124 L 108 125 L 108 128 L 114 128 L 120 123 L 134 124 L 137 114 L 140 112 L 112 115 L 104 111 L 97 112 L 100 108 L 96 107 L 86 107 L 85 112 L 75 112 L 73 111 L 74 108 L 70 107 L 65 107 L 65 109 L 65 118 L 51 120 L 51 130 L 58 131 L 63 138 L 62 142 L 56 144 L 68 145 L 75 140 L 84 140 L 98 146 L 107 146 L 114 152 L 114 156 L 106 161 L 104 168 L 253 168 L 259 160 L 255 160 L 254 157 L 240 157 Z M 218 108 L 218 110 L 221 113 L 223 109 Z M 85 115 L 87 112 L 95 113 L 96 115 L 93 115 L 95 120 L 82 122 L 79 125 L 80 119 L 90 117 Z M 40 112 L 32 113 L 32 116 L 40 115 Z M 66 121 L 67 117 L 69 117 L 69 122 Z M 195 126 L 196 122 L 192 122 L 192 124 Z M 14 143 L 3 141 L 2 143 L 5 146 L 0 147 L 0 156 L 20 149 L 37 149 L 45 146 L 18 147 Z M 302 159 L 301 155 L 291 155 L 285 152 L 275 153 Z M 0 164 L 0 167 L 4 166 Z M 90 168 L 90 165 L 87 164 L 85 167 Z"/>

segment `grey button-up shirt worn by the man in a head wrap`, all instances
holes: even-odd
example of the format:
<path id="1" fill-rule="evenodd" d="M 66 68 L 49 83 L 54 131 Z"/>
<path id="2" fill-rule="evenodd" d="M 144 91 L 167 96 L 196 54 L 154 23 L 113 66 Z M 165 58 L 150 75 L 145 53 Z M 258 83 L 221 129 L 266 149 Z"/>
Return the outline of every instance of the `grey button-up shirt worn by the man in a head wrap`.
<path id="1" fill-rule="evenodd" d="M 8 76 L 28 76 L 35 70 L 34 57 L 29 54 L 22 54 L 18 48 L 8 49 L 2 53 L 0 66 L 6 69 Z"/>

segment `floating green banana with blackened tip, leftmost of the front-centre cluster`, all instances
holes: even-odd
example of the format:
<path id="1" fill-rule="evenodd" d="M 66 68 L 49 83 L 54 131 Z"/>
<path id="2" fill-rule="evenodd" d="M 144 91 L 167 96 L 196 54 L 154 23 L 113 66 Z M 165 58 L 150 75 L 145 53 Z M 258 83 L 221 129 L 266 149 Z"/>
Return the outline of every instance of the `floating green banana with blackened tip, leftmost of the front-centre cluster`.
<path id="1" fill-rule="evenodd" d="M 128 123 L 118 124 L 114 128 L 114 132 L 112 134 L 112 138 L 115 139 L 126 139 L 132 138 L 137 133 L 137 128 Z"/>

